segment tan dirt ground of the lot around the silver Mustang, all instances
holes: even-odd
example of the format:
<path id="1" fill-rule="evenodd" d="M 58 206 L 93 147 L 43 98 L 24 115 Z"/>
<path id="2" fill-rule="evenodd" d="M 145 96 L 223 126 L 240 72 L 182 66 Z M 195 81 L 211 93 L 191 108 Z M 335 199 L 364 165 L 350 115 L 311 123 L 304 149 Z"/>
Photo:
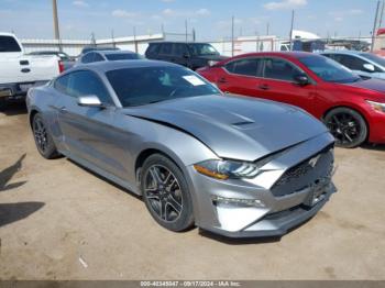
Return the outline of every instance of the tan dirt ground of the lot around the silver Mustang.
<path id="1" fill-rule="evenodd" d="M 338 149 L 339 192 L 282 239 L 172 233 L 140 199 L 36 152 L 26 112 L 0 112 L 0 278 L 385 279 L 385 146 Z"/>

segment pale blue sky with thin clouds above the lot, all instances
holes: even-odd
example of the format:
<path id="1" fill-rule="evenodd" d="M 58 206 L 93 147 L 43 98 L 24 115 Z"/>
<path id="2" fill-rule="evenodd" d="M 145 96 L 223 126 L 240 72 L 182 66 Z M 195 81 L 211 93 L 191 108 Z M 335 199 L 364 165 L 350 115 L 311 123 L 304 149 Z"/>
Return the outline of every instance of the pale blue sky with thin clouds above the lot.
<path id="1" fill-rule="evenodd" d="M 297 30 L 320 36 L 369 36 L 376 0 L 57 0 L 62 38 L 89 40 L 196 31 L 197 40 L 231 35 L 288 36 L 292 10 Z M 385 22 L 384 25 L 385 26 Z M 23 38 L 53 38 L 52 0 L 0 0 L 0 31 Z M 113 32 L 112 32 L 113 31 Z"/>

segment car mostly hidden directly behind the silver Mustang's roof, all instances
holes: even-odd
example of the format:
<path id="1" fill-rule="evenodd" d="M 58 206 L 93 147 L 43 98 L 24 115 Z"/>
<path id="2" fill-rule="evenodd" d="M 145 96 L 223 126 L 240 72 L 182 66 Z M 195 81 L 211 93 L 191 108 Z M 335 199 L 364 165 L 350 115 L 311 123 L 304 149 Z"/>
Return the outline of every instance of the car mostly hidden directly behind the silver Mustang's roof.
<path id="1" fill-rule="evenodd" d="M 82 55 L 76 65 L 107 60 L 138 60 L 143 59 L 141 55 L 131 51 L 91 51 Z"/>

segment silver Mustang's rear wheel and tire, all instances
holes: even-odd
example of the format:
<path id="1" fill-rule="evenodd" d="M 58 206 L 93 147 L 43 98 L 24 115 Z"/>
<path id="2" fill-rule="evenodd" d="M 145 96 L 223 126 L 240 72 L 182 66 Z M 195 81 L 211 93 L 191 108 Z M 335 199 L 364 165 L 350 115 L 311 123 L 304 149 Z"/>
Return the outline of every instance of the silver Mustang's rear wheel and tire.
<path id="1" fill-rule="evenodd" d="M 40 113 L 33 117 L 32 132 L 37 151 L 44 158 L 53 159 L 59 156 L 45 121 Z"/>

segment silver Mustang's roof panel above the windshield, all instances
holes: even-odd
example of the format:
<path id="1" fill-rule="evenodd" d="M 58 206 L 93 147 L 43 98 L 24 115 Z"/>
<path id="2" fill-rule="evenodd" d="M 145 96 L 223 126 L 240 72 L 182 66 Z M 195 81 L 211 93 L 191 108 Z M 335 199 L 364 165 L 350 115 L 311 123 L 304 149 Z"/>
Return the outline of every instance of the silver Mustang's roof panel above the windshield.
<path id="1" fill-rule="evenodd" d="M 138 59 L 138 60 L 116 60 L 116 62 L 95 62 L 82 64 L 77 66 L 70 71 L 90 69 L 99 73 L 107 73 L 110 70 L 124 69 L 124 68 L 145 68 L 145 67 L 180 67 L 177 64 L 162 60 L 147 60 L 147 59 Z"/>

